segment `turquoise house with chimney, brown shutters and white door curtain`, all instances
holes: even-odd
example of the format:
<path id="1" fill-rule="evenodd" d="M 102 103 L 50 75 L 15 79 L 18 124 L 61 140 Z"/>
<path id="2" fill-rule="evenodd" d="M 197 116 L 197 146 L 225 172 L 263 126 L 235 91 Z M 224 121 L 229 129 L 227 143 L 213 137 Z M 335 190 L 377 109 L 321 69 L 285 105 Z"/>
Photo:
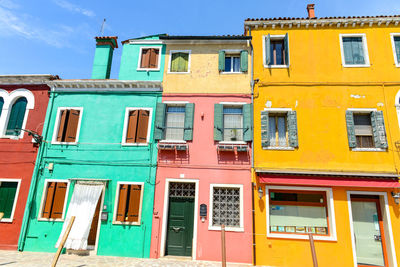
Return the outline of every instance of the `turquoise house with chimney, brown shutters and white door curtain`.
<path id="1" fill-rule="evenodd" d="M 76 216 L 67 250 L 149 257 L 161 81 L 109 79 L 117 38 L 96 41 L 96 79 L 49 83 L 44 152 L 19 249 L 55 251 Z"/>

